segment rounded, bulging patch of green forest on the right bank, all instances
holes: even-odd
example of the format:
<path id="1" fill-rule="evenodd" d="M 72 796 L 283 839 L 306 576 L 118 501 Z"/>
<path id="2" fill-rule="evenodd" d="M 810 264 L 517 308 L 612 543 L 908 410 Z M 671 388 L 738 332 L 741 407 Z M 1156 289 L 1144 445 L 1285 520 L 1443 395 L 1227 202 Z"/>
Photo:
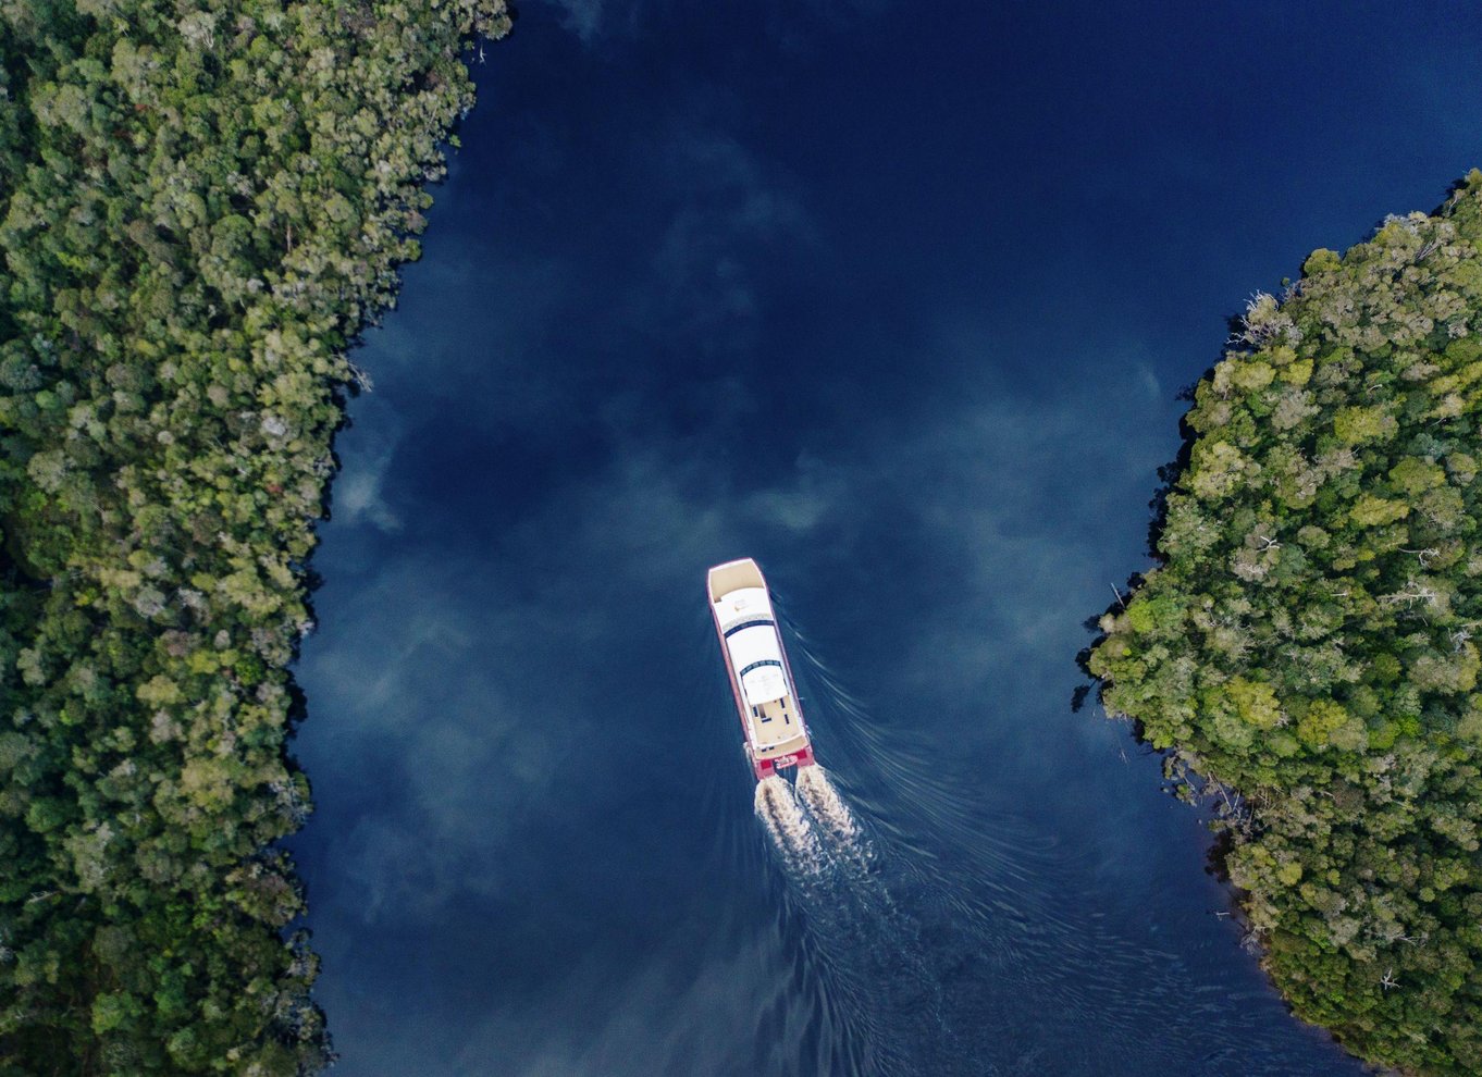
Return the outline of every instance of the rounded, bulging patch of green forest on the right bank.
<path id="1" fill-rule="evenodd" d="M 1482 1073 L 1482 173 L 1257 295 L 1194 394 L 1103 702 L 1208 794 L 1304 1019 Z"/>

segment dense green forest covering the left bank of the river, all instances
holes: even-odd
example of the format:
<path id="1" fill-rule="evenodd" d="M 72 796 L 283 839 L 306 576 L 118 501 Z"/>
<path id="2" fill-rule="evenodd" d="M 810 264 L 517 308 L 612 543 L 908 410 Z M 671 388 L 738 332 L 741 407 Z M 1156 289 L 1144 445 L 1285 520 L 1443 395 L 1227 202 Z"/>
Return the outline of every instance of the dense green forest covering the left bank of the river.
<path id="1" fill-rule="evenodd" d="M 0 1074 L 323 1067 L 305 561 L 502 0 L 0 0 Z"/>

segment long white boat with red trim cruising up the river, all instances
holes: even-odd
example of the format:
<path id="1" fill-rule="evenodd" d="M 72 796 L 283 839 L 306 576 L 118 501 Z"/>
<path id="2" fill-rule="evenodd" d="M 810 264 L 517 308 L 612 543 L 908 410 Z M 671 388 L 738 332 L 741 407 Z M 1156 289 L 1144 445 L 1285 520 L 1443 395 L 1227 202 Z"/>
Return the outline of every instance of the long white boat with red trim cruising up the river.
<path id="1" fill-rule="evenodd" d="M 757 781 L 782 767 L 814 766 L 814 747 L 762 569 L 750 557 L 726 561 L 710 570 L 707 585 Z"/>

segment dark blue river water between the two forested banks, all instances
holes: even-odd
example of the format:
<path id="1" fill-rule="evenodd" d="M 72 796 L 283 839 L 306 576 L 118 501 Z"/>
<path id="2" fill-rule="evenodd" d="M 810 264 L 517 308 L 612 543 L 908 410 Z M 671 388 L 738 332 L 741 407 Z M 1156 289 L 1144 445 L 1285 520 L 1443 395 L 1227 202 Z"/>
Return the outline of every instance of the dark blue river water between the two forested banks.
<path id="1" fill-rule="evenodd" d="M 1478 163 L 1478 37 L 528 4 L 357 356 L 316 560 L 338 1073 L 1359 1074 L 1070 693 L 1178 388 L 1248 293 Z M 852 840 L 753 813 L 704 603 L 740 556 Z"/>

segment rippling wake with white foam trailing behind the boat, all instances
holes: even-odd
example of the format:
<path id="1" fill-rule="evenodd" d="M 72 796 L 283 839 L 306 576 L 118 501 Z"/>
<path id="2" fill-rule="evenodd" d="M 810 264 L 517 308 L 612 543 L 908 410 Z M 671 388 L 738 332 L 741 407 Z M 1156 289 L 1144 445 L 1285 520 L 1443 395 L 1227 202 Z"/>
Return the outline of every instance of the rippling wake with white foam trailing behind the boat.
<path id="1" fill-rule="evenodd" d="M 1144 1073 L 1186 1065 L 1190 1041 L 1212 1071 L 1298 1073 L 1286 1047 L 1252 1043 L 1269 991 L 1232 993 L 1152 929 L 1129 935 L 1082 896 L 1097 850 L 991 810 L 980 779 L 796 650 L 830 767 L 757 785 L 766 840 L 732 833 L 735 785 L 719 824 L 777 901 L 790 975 L 757 1015 L 769 1073 Z"/>

